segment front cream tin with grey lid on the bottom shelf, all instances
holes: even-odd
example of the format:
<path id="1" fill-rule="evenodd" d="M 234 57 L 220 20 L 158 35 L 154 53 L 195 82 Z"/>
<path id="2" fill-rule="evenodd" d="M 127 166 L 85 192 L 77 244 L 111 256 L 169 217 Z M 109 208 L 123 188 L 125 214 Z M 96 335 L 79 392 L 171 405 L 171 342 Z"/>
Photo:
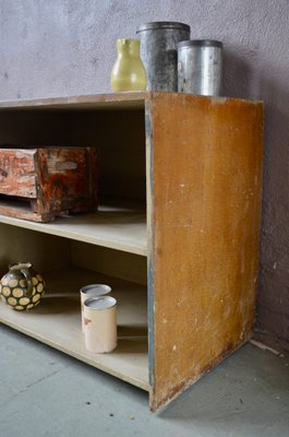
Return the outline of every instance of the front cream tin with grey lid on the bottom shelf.
<path id="1" fill-rule="evenodd" d="M 84 339 L 89 352 L 104 354 L 117 347 L 117 300 L 93 297 L 84 303 Z"/>

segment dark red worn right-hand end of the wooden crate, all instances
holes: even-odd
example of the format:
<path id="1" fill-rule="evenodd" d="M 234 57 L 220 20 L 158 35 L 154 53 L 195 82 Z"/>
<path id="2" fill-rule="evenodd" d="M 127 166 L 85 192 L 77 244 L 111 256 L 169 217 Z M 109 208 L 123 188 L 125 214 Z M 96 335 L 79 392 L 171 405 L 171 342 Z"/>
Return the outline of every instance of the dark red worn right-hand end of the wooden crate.
<path id="1" fill-rule="evenodd" d="M 37 149 L 38 214 L 93 212 L 97 208 L 97 150 L 95 147 Z"/>

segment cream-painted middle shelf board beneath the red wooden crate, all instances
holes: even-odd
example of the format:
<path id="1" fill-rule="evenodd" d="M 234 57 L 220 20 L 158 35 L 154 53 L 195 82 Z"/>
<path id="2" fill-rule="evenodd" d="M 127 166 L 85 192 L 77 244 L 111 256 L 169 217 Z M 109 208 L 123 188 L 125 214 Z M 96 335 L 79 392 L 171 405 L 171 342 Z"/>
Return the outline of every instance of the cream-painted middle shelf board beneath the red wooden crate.
<path id="1" fill-rule="evenodd" d="M 135 205 L 99 205 L 96 213 L 61 216 L 49 223 L 0 215 L 0 223 L 130 253 L 147 255 L 146 213 Z"/>

